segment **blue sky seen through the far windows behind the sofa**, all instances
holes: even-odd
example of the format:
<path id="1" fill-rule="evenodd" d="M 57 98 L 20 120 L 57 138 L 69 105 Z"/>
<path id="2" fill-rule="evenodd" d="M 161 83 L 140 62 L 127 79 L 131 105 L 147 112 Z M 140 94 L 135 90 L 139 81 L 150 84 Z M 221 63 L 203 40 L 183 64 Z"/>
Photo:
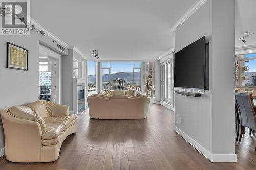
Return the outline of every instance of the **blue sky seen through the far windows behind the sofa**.
<path id="1" fill-rule="evenodd" d="M 134 63 L 134 64 L 135 64 L 134 65 L 135 67 L 140 67 L 140 63 Z M 95 61 L 88 61 L 88 75 L 95 75 L 95 66 L 96 66 Z M 132 62 L 111 63 L 111 74 L 116 72 L 133 72 L 133 63 Z"/>

